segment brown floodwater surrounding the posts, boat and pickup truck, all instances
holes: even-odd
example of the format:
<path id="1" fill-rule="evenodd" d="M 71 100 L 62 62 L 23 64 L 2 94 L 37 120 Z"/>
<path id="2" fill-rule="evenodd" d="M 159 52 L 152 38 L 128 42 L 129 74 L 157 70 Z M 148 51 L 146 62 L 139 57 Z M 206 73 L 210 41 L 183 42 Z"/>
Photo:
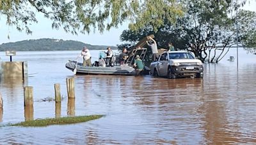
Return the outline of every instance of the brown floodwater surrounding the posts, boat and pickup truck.
<path id="1" fill-rule="evenodd" d="M 74 52 L 18 52 L 29 77 L 1 79 L 0 125 L 38 118 L 106 114 L 74 125 L 0 127 L 0 144 L 256 144 L 256 56 L 239 51 L 236 62 L 205 64 L 204 79 L 151 76 L 76 76 L 68 102 L 65 69 Z M 97 57 L 97 51 L 92 51 Z M 7 60 L 4 52 L 0 57 Z M 60 105 L 42 102 L 61 84 Z M 23 87 L 34 87 L 34 107 L 24 108 Z"/>

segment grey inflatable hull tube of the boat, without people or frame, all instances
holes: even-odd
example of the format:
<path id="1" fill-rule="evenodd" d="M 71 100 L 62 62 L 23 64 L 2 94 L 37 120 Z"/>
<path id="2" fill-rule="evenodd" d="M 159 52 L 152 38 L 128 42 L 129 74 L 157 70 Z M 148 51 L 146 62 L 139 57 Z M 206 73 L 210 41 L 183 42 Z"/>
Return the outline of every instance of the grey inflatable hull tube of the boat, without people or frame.
<path id="1" fill-rule="evenodd" d="M 69 60 L 65 65 L 67 69 L 74 71 L 76 61 Z M 129 66 L 114 66 L 114 67 L 83 67 L 83 64 L 77 63 L 76 74 L 103 74 L 103 75 L 125 75 L 131 76 L 134 74 L 134 68 Z"/>

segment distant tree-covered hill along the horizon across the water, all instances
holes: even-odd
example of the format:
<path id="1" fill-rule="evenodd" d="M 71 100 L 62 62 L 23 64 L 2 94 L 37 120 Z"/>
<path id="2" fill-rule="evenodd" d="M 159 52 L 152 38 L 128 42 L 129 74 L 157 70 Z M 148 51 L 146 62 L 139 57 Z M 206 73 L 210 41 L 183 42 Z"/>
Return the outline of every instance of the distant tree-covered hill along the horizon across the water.
<path id="1" fill-rule="evenodd" d="M 5 50 L 16 51 L 54 51 L 54 50 L 81 50 L 83 46 L 87 46 L 90 50 L 105 50 L 108 46 L 89 45 L 79 41 L 63 40 L 63 39 L 30 39 L 17 41 L 15 43 L 3 43 L 0 45 L 0 52 Z M 117 49 L 116 46 L 111 46 Z"/>

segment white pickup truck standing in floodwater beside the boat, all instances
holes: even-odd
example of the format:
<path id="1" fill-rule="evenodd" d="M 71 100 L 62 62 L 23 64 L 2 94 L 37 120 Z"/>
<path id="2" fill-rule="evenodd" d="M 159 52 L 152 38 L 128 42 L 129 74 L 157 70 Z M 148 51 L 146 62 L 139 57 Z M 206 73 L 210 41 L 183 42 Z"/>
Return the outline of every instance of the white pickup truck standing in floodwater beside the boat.
<path id="1" fill-rule="evenodd" d="M 204 66 L 199 59 L 195 59 L 193 53 L 172 51 L 164 52 L 157 62 L 150 64 L 150 72 L 153 76 L 166 76 L 167 78 L 178 78 L 204 76 Z"/>

